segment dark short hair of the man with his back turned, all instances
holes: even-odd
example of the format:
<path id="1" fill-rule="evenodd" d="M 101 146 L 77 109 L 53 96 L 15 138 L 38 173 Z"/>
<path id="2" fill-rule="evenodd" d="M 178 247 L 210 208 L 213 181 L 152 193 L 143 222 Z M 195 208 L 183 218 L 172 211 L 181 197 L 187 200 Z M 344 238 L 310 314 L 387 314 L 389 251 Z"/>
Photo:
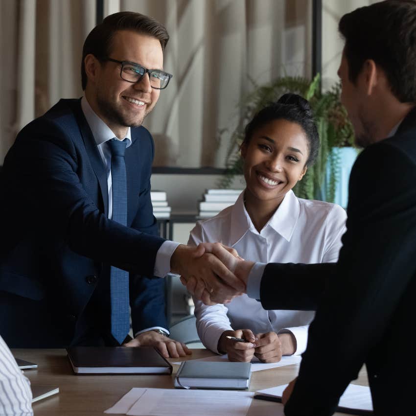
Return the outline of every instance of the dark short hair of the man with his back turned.
<path id="1" fill-rule="evenodd" d="M 338 27 L 345 39 L 348 78 L 355 83 L 372 59 L 400 102 L 416 102 L 416 1 L 386 0 L 344 15 Z"/>

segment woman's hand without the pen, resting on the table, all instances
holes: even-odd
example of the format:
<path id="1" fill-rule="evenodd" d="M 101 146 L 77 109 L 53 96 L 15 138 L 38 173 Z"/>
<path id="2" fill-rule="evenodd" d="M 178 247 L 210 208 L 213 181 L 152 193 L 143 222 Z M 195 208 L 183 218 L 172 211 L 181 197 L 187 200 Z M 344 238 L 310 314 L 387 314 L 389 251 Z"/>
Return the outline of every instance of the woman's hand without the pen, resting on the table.
<path id="1" fill-rule="evenodd" d="M 291 334 L 267 332 L 256 334 L 256 348 L 254 355 L 262 363 L 278 363 L 282 355 L 292 355 L 295 352 L 293 337 Z"/>

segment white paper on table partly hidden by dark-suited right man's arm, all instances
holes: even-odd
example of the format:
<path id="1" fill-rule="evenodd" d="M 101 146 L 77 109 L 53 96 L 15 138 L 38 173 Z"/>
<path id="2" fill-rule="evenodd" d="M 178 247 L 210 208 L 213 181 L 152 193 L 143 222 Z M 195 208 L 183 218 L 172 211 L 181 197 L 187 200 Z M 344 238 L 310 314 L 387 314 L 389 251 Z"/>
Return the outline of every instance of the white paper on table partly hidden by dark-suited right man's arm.
<path id="1" fill-rule="evenodd" d="M 257 393 L 281 397 L 286 386 L 287 384 L 284 384 L 283 386 L 258 390 Z M 349 384 L 344 394 L 341 396 L 338 405 L 350 409 L 372 410 L 370 388 L 358 386 L 357 384 Z"/>

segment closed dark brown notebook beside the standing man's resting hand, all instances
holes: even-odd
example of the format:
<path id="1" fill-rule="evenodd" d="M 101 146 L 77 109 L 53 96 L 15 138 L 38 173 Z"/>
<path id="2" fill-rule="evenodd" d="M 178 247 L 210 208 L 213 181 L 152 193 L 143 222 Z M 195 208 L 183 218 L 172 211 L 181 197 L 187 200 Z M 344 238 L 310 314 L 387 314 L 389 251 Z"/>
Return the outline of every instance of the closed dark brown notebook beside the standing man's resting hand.
<path id="1" fill-rule="evenodd" d="M 172 366 L 153 347 L 70 347 L 75 374 L 171 374 Z"/>

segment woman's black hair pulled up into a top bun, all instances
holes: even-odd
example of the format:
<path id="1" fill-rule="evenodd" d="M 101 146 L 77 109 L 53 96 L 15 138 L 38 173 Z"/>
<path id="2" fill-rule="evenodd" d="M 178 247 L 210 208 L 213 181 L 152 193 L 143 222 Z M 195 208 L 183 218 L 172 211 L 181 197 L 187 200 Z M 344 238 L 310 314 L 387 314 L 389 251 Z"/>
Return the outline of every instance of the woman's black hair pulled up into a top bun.
<path id="1" fill-rule="evenodd" d="M 315 162 L 319 150 L 319 134 L 316 127 L 309 102 L 298 94 L 283 94 L 277 102 L 261 109 L 247 124 L 243 144 L 249 144 L 261 127 L 274 120 L 284 119 L 297 123 L 305 132 L 308 141 L 309 155 L 305 163 L 310 166 Z"/>

